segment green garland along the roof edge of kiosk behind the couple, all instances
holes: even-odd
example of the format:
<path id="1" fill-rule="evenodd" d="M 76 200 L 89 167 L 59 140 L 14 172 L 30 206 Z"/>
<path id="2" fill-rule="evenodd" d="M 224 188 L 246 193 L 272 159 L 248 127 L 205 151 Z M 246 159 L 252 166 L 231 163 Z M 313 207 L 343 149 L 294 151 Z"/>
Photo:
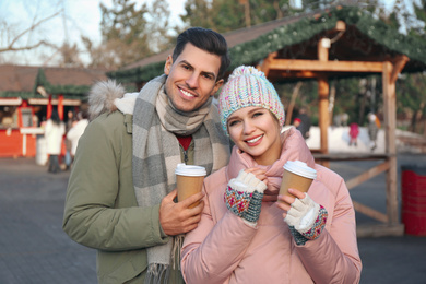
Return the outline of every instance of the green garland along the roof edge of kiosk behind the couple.
<path id="1" fill-rule="evenodd" d="M 368 11 L 355 7 L 333 8 L 319 17 L 305 17 L 300 21 L 282 25 L 251 42 L 229 48 L 232 64 L 228 71 L 241 64 L 255 64 L 269 54 L 303 43 L 321 32 L 332 29 L 339 20 L 354 25 L 360 33 L 383 46 L 383 49 L 403 54 L 413 60 L 426 64 L 426 43 L 417 37 L 405 36 L 375 19 Z M 226 37 L 226 35 L 225 35 Z M 119 82 L 147 82 L 163 73 L 164 61 L 129 70 L 109 72 L 107 75 Z"/>

